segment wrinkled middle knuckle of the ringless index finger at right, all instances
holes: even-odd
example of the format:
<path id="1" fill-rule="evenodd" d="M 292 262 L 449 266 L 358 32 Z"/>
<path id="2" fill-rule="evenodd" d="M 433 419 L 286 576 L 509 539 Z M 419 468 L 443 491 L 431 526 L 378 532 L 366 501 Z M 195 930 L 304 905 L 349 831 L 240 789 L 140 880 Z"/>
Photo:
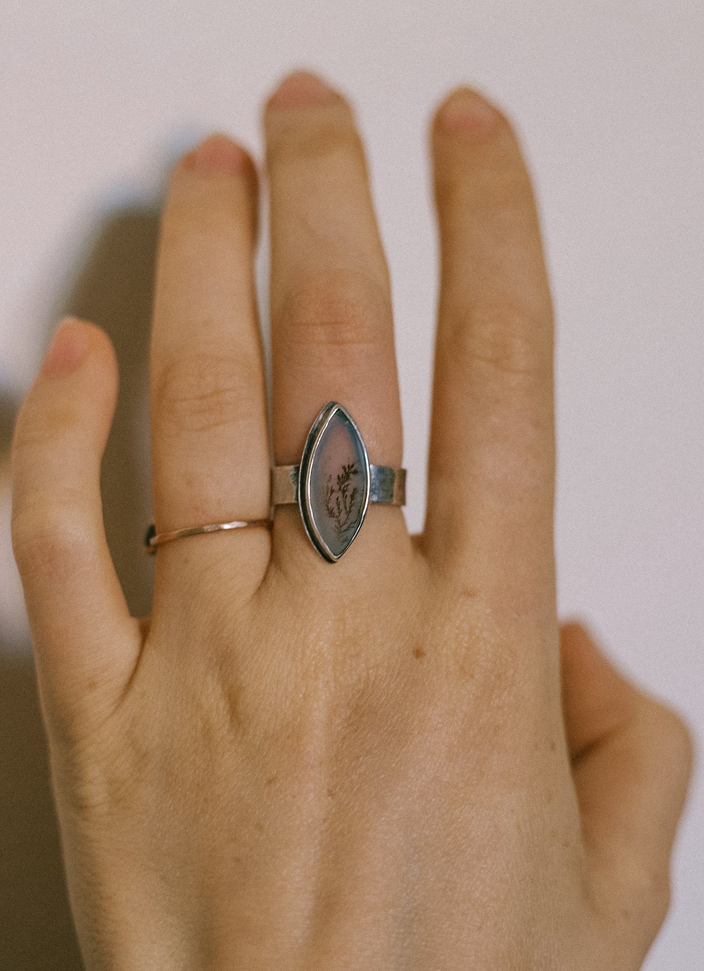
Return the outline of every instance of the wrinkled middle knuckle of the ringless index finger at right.
<path id="1" fill-rule="evenodd" d="M 544 381 L 552 366 L 546 321 L 511 303 L 481 303 L 455 313 L 449 351 L 482 370 L 489 379 L 521 383 Z"/>

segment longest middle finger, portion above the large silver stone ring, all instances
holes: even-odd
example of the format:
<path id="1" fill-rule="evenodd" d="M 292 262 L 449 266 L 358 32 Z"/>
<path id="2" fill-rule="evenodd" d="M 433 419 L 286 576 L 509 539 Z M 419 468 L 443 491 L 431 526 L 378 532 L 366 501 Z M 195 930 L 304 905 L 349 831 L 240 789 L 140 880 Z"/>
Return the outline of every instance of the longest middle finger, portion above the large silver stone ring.
<path id="1" fill-rule="evenodd" d="M 372 462 L 399 465 L 388 272 L 352 112 L 299 73 L 269 100 L 265 129 L 276 460 L 300 461 L 332 400 L 351 412 Z"/>

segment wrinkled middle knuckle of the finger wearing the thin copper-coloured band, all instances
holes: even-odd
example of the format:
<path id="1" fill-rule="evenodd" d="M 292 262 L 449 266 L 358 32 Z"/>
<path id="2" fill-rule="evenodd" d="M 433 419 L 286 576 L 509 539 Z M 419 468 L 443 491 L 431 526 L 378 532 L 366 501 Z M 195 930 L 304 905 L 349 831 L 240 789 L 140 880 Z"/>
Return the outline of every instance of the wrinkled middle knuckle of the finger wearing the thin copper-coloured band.
<path id="1" fill-rule="evenodd" d="M 251 416 L 253 362 L 217 352 L 180 354 L 166 364 L 154 393 L 154 417 L 161 431 L 203 432 Z"/>

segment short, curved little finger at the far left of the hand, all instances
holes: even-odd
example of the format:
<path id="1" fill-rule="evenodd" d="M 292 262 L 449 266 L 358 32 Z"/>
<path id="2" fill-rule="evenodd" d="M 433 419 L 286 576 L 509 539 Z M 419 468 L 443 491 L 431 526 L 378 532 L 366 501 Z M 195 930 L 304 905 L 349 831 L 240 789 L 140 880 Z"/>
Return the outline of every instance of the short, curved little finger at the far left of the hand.
<path id="1" fill-rule="evenodd" d="M 100 461 L 117 397 L 105 334 L 65 322 L 17 419 L 13 546 L 42 696 L 63 714 L 112 703 L 139 653 L 103 529 Z"/>

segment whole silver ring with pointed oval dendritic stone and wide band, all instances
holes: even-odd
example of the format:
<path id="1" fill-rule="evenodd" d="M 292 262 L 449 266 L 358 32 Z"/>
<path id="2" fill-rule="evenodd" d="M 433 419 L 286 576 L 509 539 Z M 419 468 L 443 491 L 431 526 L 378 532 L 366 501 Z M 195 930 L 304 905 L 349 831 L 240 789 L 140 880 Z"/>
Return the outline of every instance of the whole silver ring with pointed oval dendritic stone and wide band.
<path id="1" fill-rule="evenodd" d="M 370 502 L 402 506 L 406 470 L 371 465 L 352 415 L 325 405 L 308 434 L 300 465 L 272 469 L 272 506 L 298 503 L 311 543 L 335 563 L 359 532 Z"/>

